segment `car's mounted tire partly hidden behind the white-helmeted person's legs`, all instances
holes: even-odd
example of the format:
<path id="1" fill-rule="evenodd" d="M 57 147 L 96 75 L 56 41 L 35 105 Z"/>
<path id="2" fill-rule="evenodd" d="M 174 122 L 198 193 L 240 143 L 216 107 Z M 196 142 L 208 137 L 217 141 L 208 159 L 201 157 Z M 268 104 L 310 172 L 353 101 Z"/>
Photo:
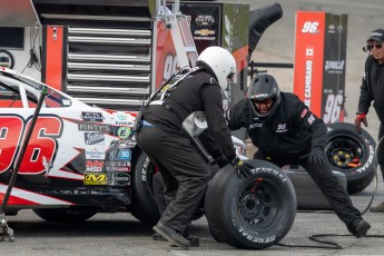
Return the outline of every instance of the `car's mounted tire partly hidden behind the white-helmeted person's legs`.
<path id="1" fill-rule="evenodd" d="M 148 225 L 155 225 L 160 219 L 154 189 L 152 177 L 156 173 L 154 163 L 145 152 L 140 152 L 134 160 L 132 169 L 132 205 L 130 213 Z"/>

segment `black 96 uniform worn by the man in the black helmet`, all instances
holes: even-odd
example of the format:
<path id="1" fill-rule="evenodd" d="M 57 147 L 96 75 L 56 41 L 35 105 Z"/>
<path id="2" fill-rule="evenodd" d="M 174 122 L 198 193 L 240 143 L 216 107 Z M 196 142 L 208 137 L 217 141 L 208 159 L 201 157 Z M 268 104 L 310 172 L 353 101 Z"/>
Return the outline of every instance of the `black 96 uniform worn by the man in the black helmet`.
<path id="1" fill-rule="evenodd" d="M 267 117 L 258 117 L 250 107 L 249 99 L 240 100 L 226 115 L 229 129 L 247 128 L 248 136 L 258 148 L 255 159 L 268 160 L 279 167 L 301 165 L 348 230 L 356 232 L 353 225 L 362 220 L 362 215 L 352 205 L 349 196 L 328 164 L 308 161 L 308 154 L 314 147 L 324 154 L 327 129 L 323 120 L 312 114 L 297 96 L 280 92 L 276 111 Z"/>

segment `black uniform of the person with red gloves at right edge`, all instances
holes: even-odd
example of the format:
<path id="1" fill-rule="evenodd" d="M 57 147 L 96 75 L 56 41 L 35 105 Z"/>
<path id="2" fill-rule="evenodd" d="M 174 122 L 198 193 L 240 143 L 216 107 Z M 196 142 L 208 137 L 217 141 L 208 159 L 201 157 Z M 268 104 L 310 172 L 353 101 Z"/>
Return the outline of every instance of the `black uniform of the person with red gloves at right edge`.
<path id="1" fill-rule="evenodd" d="M 384 63 L 378 63 L 372 55 L 366 58 L 365 76 L 360 91 L 357 115 L 366 115 L 373 101 L 373 107 L 380 120 L 380 140 L 384 136 Z M 384 154 L 378 154 L 377 159 L 384 179 Z"/>

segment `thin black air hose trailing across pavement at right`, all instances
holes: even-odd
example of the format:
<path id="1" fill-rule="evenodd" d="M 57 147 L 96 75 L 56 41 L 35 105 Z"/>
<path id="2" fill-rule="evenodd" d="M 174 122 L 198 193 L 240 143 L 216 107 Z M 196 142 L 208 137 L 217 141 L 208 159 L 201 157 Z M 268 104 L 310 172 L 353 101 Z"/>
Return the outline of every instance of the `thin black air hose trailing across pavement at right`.
<path id="1" fill-rule="evenodd" d="M 373 199 L 375 198 L 376 191 L 377 191 L 377 185 L 378 185 L 378 178 L 377 178 L 377 167 L 378 167 L 378 159 L 377 159 L 377 151 L 380 146 L 382 145 L 382 141 L 384 140 L 384 137 L 382 137 L 375 148 L 375 156 L 374 156 L 374 188 L 373 194 L 370 199 L 370 203 L 367 204 L 366 208 L 362 211 L 362 215 L 364 215 L 371 207 Z M 351 236 L 354 237 L 354 235 L 351 234 L 316 234 L 316 235 L 309 235 L 309 239 L 314 240 L 316 243 L 326 244 L 327 246 L 322 245 L 298 245 L 298 244 L 292 244 L 292 243 L 278 243 L 279 246 L 286 246 L 286 247 L 302 247 L 302 248 L 324 248 L 324 249 L 343 249 L 344 246 L 332 242 L 332 240 L 325 240 L 321 239 L 323 237 L 339 237 L 339 236 Z M 384 238 L 384 235 L 366 235 L 365 237 L 374 237 L 374 238 Z"/>

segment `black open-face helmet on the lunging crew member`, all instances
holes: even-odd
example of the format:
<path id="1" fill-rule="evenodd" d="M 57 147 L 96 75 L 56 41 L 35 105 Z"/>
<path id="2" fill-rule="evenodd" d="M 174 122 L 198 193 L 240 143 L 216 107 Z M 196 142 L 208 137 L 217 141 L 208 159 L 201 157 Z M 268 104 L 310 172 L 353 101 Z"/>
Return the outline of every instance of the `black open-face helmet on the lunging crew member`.
<path id="1" fill-rule="evenodd" d="M 280 89 L 274 77 L 269 75 L 258 75 L 250 81 L 248 97 L 250 100 L 250 106 L 258 117 L 266 117 L 273 115 L 279 102 L 280 102 Z M 255 101 L 272 100 L 272 106 L 269 111 L 266 114 L 260 114 L 256 106 Z"/>

